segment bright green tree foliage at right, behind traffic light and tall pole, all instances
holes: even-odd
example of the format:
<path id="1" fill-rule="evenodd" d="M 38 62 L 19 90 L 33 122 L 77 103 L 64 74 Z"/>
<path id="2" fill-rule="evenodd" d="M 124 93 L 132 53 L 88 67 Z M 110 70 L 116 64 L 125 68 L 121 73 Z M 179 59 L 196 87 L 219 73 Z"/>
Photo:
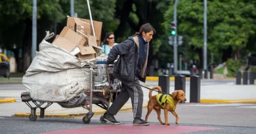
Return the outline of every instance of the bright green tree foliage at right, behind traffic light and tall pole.
<path id="1" fill-rule="evenodd" d="M 232 50 L 251 47 L 255 42 L 255 1 L 207 1 L 207 48 L 215 55 L 232 47 Z M 188 44 L 196 48 L 203 47 L 203 1 L 180 0 L 177 5 L 177 33 L 190 37 Z M 174 6 L 169 5 L 165 12 L 163 26 L 170 31 Z M 165 36 L 168 36 L 169 32 Z M 208 52 L 208 56 L 209 56 Z M 245 52 L 246 54 L 246 52 Z M 220 56 L 218 56 L 220 57 Z"/>

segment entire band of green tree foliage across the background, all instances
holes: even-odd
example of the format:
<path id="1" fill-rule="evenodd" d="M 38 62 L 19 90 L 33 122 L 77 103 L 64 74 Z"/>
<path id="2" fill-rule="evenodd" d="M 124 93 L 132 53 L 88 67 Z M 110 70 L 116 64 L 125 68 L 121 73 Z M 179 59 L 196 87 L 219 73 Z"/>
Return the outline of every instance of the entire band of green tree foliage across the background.
<path id="1" fill-rule="evenodd" d="M 117 33 L 116 42 L 124 41 L 135 31 L 139 31 L 140 25 L 150 22 L 156 29 L 152 54 L 164 68 L 166 63 L 173 62 L 173 46 L 168 44 L 168 36 L 173 21 L 174 2 L 175 0 L 91 0 L 90 7 L 93 20 L 103 22 L 102 39 L 107 32 L 114 31 Z M 127 3 L 130 3 L 131 8 Z M 16 44 L 30 54 L 32 4 L 32 0 L 0 1 L 1 48 L 11 50 Z M 131 11 L 127 11 L 129 9 Z M 74 10 L 79 18 L 90 19 L 87 0 L 75 0 Z M 46 30 L 53 31 L 55 27 L 56 34 L 60 33 L 66 25 L 67 15 L 70 16 L 70 0 L 37 1 L 37 44 L 45 36 Z M 208 57 L 213 52 L 215 61 L 221 61 L 223 49 L 228 47 L 232 47 L 233 52 L 241 50 L 240 54 L 244 56 L 256 54 L 255 16 L 256 1 L 208 0 Z M 200 61 L 202 56 L 199 52 L 202 52 L 203 47 L 203 1 L 179 0 L 177 20 L 177 34 L 183 36 L 178 54 L 183 54 L 184 61 Z"/>

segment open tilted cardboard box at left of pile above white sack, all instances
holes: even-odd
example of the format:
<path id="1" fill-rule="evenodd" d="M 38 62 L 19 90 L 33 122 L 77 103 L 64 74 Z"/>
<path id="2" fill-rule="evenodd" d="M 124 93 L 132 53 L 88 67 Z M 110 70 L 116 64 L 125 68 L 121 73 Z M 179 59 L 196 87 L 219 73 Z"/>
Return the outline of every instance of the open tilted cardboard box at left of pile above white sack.
<path id="1" fill-rule="evenodd" d="M 85 39 L 81 37 L 81 35 L 75 33 L 68 27 L 64 27 L 60 33 L 60 35 L 56 35 L 56 39 L 54 39 L 54 45 L 68 51 L 72 52 L 72 54 L 78 54 L 76 46 L 83 46 L 85 43 Z"/>

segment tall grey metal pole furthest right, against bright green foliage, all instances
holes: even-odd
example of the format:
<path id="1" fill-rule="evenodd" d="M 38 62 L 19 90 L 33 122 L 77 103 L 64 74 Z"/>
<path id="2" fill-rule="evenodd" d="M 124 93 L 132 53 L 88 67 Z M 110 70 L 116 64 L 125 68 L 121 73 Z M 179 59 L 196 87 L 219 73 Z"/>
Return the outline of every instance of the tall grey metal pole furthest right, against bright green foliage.
<path id="1" fill-rule="evenodd" d="M 207 0 L 204 0 L 203 10 L 203 69 L 207 69 Z"/>

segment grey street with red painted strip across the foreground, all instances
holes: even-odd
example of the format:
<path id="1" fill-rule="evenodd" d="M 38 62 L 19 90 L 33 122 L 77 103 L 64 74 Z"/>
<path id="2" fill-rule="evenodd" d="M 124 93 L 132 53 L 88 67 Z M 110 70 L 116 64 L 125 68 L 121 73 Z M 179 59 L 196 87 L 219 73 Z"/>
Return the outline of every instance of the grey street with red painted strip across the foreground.
<path id="1" fill-rule="evenodd" d="M 132 126 L 131 111 L 119 112 L 116 119 L 122 125 L 112 126 L 110 123 L 102 124 L 100 116 L 93 116 L 91 124 L 85 125 L 79 118 L 38 118 L 35 122 L 28 118 L 0 118 L 1 134 L 5 133 L 190 133 L 190 134 L 255 134 L 256 133 L 256 105 L 254 104 L 179 104 L 179 125 L 175 124 L 174 116 L 169 113 L 171 126 L 161 126 L 155 111 L 149 116 L 150 126 Z M 142 118 L 146 114 L 143 109 Z M 161 119 L 164 120 L 163 110 Z M 24 125 L 26 124 L 26 125 Z M 15 129 L 13 129 L 14 126 Z M 46 133 L 48 132 L 48 133 Z"/>

